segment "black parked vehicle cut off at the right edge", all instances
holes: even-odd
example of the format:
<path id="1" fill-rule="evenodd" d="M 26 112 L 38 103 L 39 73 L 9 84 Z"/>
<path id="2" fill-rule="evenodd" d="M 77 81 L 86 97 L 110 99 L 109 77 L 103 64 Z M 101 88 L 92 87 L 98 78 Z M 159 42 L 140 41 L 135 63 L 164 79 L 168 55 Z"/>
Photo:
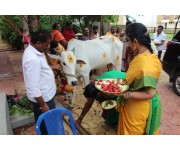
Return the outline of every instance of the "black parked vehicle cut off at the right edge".
<path id="1" fill-rule="evenodd" d="M 169 82 L 173 83 L 175 93 L 180 96 L 180 30 L 167 43 L 163 70 L 169 75 Z"/>

